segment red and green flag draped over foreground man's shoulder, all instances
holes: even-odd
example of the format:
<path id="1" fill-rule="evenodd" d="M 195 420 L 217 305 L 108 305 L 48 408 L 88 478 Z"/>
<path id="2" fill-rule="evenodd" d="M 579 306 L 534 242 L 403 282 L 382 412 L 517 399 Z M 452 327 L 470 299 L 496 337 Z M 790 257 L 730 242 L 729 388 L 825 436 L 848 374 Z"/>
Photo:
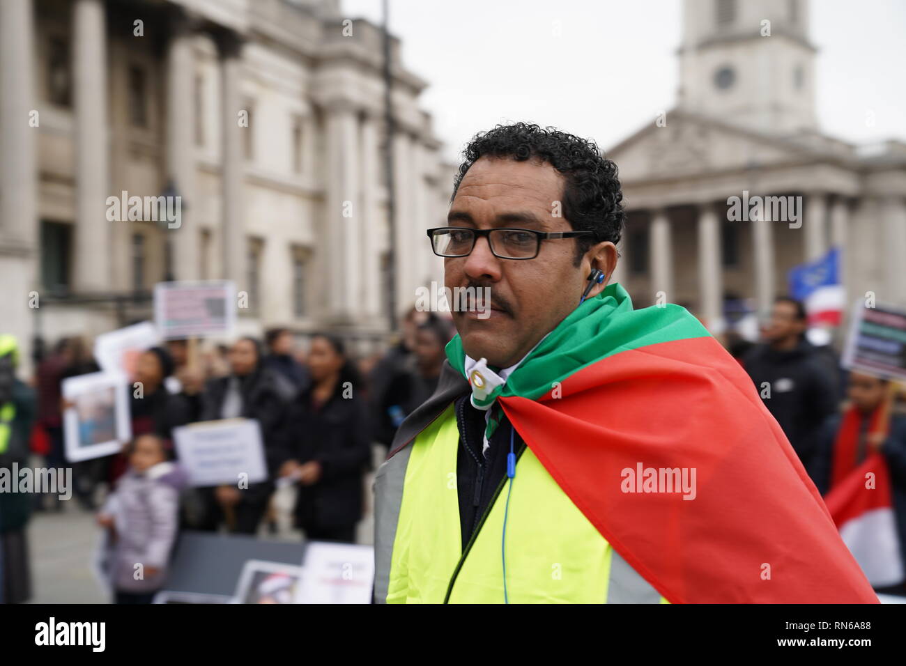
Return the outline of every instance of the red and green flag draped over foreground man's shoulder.
<path id="1" fill-rule="evenodd" d="M 465 377 L 459 336 L 447 355 Z M 608 285 L 494 398 L 670 603 L 877 602 L 752 381 L 684 308 L 633 310 Z"/>

